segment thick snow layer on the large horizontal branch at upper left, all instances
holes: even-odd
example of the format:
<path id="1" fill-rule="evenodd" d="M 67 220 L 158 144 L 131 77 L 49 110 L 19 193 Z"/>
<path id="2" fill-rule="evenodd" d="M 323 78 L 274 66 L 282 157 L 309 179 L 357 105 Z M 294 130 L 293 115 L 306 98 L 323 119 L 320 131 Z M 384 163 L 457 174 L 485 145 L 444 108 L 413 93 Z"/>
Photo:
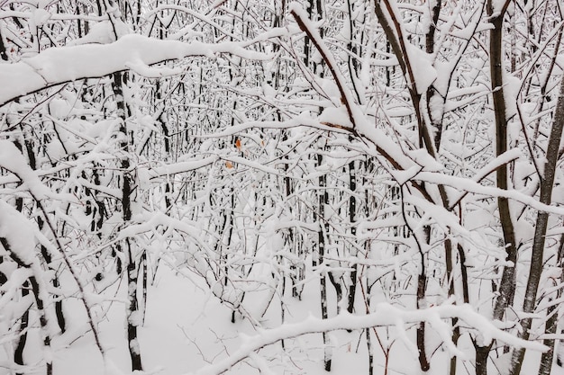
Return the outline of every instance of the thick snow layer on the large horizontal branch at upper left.
<path id="1" fill-rule="evenodd" d="M 166 60 L 186 57 L 214 57 L 231 53 L 241 58 L 267 59 L 267 55 L 245 49 L 248 43 L 223 42 L 206 44 L 177 40 L 157 40 L 141 35 L 124 35 L 110 44 L 85 44 L 46 49 L 32 58 L 14 64 L 0 64 L 0 106 L 53 85 L 83 78 L 106 76 L 135 68 L 142 74 L 159 76 L 149 66 Z M 174 72 L 163 71 L 163 75 Z"/>

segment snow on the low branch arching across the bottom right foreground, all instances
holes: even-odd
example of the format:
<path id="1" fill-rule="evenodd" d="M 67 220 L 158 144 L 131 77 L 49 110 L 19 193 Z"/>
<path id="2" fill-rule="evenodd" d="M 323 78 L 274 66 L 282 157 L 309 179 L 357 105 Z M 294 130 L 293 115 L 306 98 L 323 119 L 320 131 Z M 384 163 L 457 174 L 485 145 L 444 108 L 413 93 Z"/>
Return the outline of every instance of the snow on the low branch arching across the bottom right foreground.
<path id="1" fill-rule="evenodd" d="M 506 344 L 516 347 L 523 347 L 535 351 L 544 352 L 547 347 L 540 343 L 525 341 L 511 335 L 492 323 L 487 317 L 478 314 L 470 305 L 443 305 L 432 308 L 425 308 L 407 311 L 396 308 L 387 303 L 378 304 L 376 312 L 365 316 L 353 316 L 347 312 L 341 313 L 337 317 L 319 319 L 308 317 L 303 322 L 286 324 L 273 329 L 260 331 L 257 335 L 242 336 L 239 350 L 232 353 L 223 361 L 210 364 L 193 375 L 217 375 L 228 371 L 238 362 L 250 358 L 253 353 L 269 344 L 277 343 L 291 337 L 308 335 L 320 332 L 336 331 L 341 329 L 365 329 L 373 326 L 397 326 L 405 324 L 427 322 L 431 324 L 451 353 L 459 355 L 456 345 L 451 342 L 450 326 L 445 324 L 442 319 L 457 317 L 464 321 L 470 328 L 478 331 L 484 343 L 488 344 L 492 340 L 500 340 Z"/>

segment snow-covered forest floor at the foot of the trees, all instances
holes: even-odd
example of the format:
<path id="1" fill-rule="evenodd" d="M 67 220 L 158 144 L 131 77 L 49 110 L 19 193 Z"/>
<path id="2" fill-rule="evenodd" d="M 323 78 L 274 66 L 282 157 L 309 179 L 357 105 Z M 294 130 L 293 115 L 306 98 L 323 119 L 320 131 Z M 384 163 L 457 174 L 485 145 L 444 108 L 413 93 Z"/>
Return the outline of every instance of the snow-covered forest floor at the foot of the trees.
<path id="1" fill-rule="evenodd" d="M 285 320 L 287 323 L 303 321 L 306 317 L 320 316 L 319 293 L 315 291 L 316 282 L 308 282 L 298 300 L 285 297 L 287 306 Z M 232 323 L 232 310 L 223 306 L 216 299 L 210 288 L 198 276 L 186 278 L 178 275 L 166 266 L 159 267 L 153 284 L 148 291 L 148 305 L 144 325 L 140 330 L 141 356 L 145 373 L 161 375 L 210 374 L 214 373 L 208 367 L 235 352 L 241 347 L 246 337 L 258 335 L 259 330 L 250 324 L 249 319 L 236 315 Z M 53 340 L 54 375 L 122 375 L 131 373 L 130 359 L 125 335 L 125 290 L 123 285 L 105 290 L 102 309 L 98 309 L 98 325 L 102 344 L 109 360 L 104 365 L 102 356 L 94 344 L 93 335 L 86 332 L 84 323 L 86 314 L 81 305 L 75 300 L 68 300 L 65 311 L 68 318 L 68 331 L 64 335 L 56 336 Z M 288 295 L 290 293 L 287 293 Z M 263 307 L 264 301 L 259 300 L 261 293 L 252 294 L 246 298 L 246 306 L 252 308 L 255 298 L 256 306 Z M 92 298 L 95 298 L 92 297 Z M 330 295 L 330 299 L 335 298 Z M 113 299 L 113 301 L 108 301 Z M 359 301 L 361 302 L 361 301 Z M 275 299 L 267 314 L 260 319 L 263 328 L 280 326 L 279 300 Z M 333 304 L 334 305 L 334 304 Z M 359 306 L 361 308 L 361 306 Z M 251 312 L 252 314 L 252 312 Z M 335 311 L 333 311 L 333 314 Z M 33 317 L 32 317 L 33 319 Z M 77 322 L 83 322 L 76 325 Z M 409 327 L 408 327 L 409 328 Z M 400 330 L 395 328 L 378 328 L 377 340 L 372 339 L 376 365 L 375 375 L 405 375 L 421 374 L 417 358 L 409 350 L 409 344 L 404 339 L 414 339 L 414 329 L 409 329 L 404 338 L 397 335 Z M 428 374 L 448 373 L 449 355 L 443 350 L 438 340 L 432 335 L 428 337 L 430 354 L 432 353 L 432 370 Z M 25 360 L 34 365 L 26 366 L 25 373 L 44 374 L 44 356 L 40 346 L 39 329 L 32 329 L 28 337 L 28 344 L 24 353 Z M 333 361 L 332 374 L 368 374 L 368 350 L 364 332 L 335 331 L 329 334 Z M 433 344 L 436 341 L 436 344 Z M 414 342 L 414 341 L 412 341 Z M 323 340 L 321 334 L 303 335 L 285 340 L 285 350 L 282 344 L 272 344 L 259 351 L 259 358 L 247 359 L 233 366 L 227 371 L 229 374 L 250 375 L 264 373 L 284 375 L 323 375 Z M 386 371 L 386 359 L 382 347 L 389 349 Z M 459 349 L 473 356 L 471 343 L 465 336 L 459 341 Z M 12 373 L 7 369 L 9 361 L 6 356 L 13 353 L 11 344 L 4 344 L 4 351 L 0 353 L 0 374 Z M 501 351 L 500 351 L 501 353 Z M 10 354 L 11 355 L 11 354 Z M 540 355 L 530 353 L 529 355 Z M 469 359 L 468 358 L 468 359 Z M 502 371 L 505 362 L 500 358 L 491 363 L 492 373 Z M 532 361 L 537 363 L 536 361 Z M 3 366 L 3 363 L 6 365 Z M 474 369 L 471 362 L 459 361 L 459 374 L 472 374 Z M 259 369 L 259 367 L 262 368 Z M 108 371 L 109 369 L 109 371 Z M 497 370 L 497 371 L 496 371 Z M 208 372 L 210 371 L 210 372 Z M 268 372 L 271 371 L 271 372 Z M 525 363 L 523 374 L 534 374 L 536 370 L 528 369 Z M 552 375 L 563 375 L 564 370 L 554 366 Z"/>

